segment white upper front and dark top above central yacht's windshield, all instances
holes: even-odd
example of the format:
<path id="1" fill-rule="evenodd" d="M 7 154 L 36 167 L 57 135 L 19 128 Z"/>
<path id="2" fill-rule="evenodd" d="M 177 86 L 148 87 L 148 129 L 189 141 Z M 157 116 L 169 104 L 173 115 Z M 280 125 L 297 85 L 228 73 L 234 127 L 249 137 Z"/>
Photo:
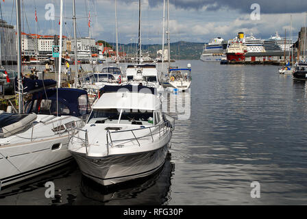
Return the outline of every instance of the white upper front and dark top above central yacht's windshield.
<path id="1" fill-rule="evenodd" d="M 158 110 L 160 99 L 156 88 L 146 86 L 104 86 L 93 109 Z"/>

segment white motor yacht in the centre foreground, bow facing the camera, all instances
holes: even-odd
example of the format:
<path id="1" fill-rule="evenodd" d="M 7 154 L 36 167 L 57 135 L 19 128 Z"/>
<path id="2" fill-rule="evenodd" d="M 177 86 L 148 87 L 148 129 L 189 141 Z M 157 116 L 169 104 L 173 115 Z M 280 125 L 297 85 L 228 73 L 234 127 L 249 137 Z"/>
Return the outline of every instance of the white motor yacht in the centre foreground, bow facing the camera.
<path id="1" fill-rule="evenodd" d="M 69 151 L 83 175 L 114 185 L 156 172 L 170 147 L 175 120 L 163 114 L 156 88 L 105 86 Z"/>

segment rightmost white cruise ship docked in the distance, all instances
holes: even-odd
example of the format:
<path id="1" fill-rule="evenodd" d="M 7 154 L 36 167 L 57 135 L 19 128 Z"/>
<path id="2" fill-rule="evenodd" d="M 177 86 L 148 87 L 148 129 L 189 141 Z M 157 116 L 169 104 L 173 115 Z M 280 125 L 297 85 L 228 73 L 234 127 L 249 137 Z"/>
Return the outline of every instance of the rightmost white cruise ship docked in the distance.
<path id="1" fill-rule="evenodd" d="M 264 46 L 265 51 L 289 51 L 293 42 L 292 40 L 281 38 L 278 35 L 278 32 L 275 32 L 275 36 L 271 36 L 271 38 L 265 40 Z"/>

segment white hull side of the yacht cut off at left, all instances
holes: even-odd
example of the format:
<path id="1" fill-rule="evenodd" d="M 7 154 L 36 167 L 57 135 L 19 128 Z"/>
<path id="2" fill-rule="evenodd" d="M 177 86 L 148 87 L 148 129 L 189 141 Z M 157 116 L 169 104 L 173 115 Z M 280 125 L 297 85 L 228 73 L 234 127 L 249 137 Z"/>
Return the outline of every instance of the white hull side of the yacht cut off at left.
<path id="1" fill-rule="evenodd" d="M 0 188 L 64 166 L 73 160 L 68 136 L 0 146 Z M 54 146 L 60 144 L 60 148 Z"/>

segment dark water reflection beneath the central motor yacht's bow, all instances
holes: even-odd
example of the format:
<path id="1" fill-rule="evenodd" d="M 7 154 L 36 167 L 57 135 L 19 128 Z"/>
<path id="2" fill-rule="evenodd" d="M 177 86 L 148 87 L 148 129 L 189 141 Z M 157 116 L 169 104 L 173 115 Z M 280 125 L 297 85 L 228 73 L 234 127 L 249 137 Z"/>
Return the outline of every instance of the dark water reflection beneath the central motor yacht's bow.
<path id="1" fill-rule="evenodd" d="M 81 192 L 88 198 L 86 204 L 103 203 L 104 205 L 166 205 L 171 198 L 171 176 L 175 164 L 167 155 L 161 170 L 153 175 L 125 183 L 114 188 L 103 188 L 101 185 L 82 177 Z M 85 204 L 78 199 L 75 204 Z"/>

